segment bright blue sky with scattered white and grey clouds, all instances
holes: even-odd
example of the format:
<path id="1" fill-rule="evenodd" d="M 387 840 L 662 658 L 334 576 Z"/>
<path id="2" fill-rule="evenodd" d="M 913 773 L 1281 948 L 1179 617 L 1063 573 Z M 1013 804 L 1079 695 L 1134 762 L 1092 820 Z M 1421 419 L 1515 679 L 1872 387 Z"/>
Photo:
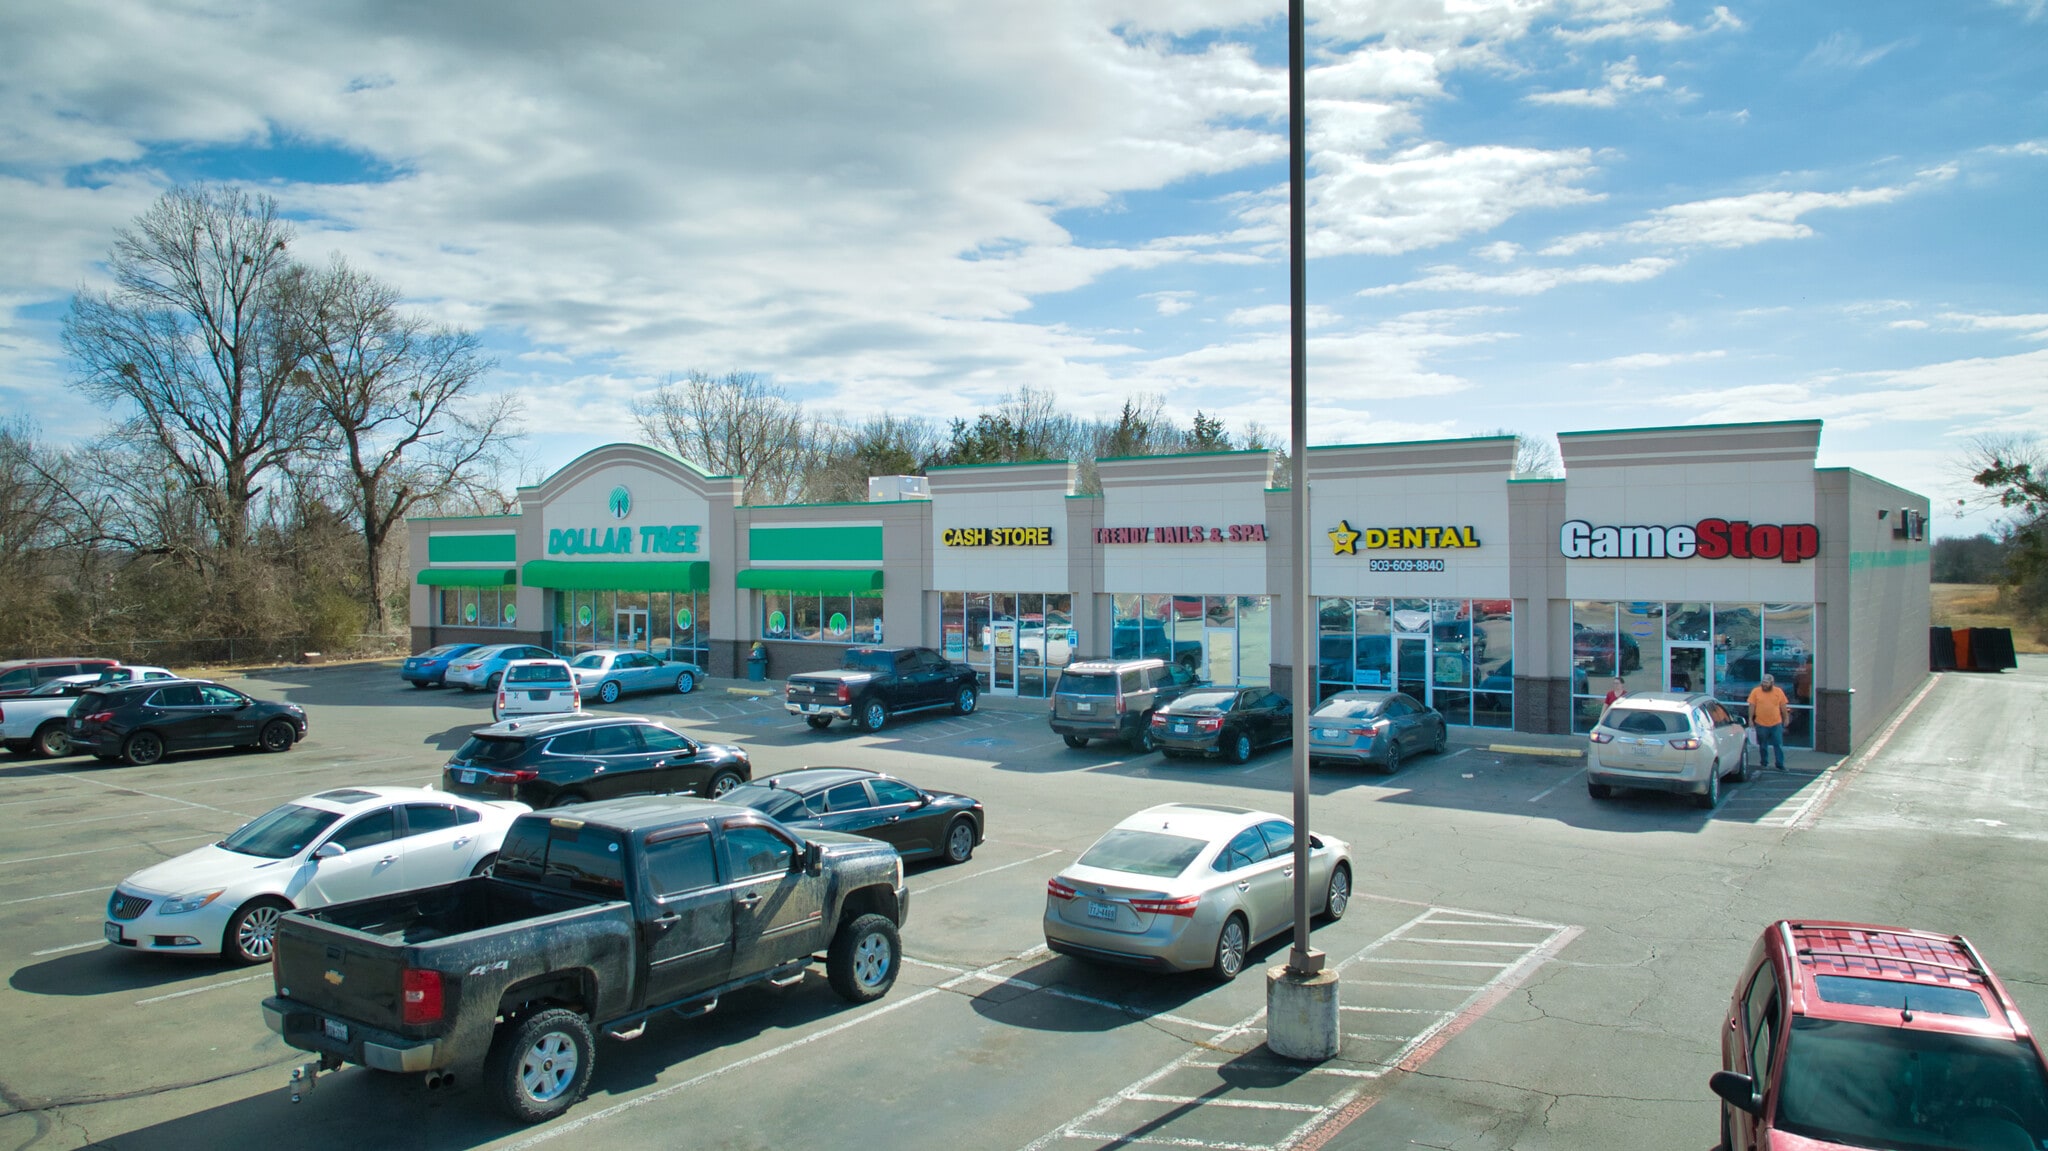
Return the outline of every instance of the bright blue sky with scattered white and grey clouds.
<path id="1" fill-rule="evenodd" d="M 2048 0 L 1311 0 L 1309 438 L 1825 420 L 1962 508 L 2048 432 Z M 1288 428 L 1278 0 L 0 6 L 0 418 L 180 182 L 473 330 L 537 475 L 758 373 Z M 530 477 L 530 479 L 532 479 Z"/>

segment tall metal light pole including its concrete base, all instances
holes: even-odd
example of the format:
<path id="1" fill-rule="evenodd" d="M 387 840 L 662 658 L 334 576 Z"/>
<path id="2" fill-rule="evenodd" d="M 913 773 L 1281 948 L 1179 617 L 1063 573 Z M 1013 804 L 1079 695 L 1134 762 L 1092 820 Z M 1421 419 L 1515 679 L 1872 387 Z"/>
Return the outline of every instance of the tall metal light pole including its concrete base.
<path id="1" fill-rule="evenodd" d="M 1286 6 L 1288 51 L 1288 279 L 1292 281 L 1292 387 L 1288 487 L 1294 494 L 1294 948 L 1266 973 L 1266 1047 L 1321 1061 L 1343 1049 L 1337 973 L 1309 946 L 1309 711 L 1315 707 L 1315 610 L 1309 602 L 1309 178 L 1303 78 L 1303 2 Z"/>

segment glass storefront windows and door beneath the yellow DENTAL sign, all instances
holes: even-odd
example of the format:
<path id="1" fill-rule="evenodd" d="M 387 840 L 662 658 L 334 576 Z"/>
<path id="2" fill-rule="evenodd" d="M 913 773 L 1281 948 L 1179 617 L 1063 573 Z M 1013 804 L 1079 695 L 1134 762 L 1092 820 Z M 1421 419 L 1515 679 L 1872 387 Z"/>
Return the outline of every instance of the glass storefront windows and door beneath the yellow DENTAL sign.
<path id="1" fill-rule="evenodd" d="M 1317 600 L 1317 698 L 1401 690 L 1460 727 L 1513 727 L 1509 600 Z"/>

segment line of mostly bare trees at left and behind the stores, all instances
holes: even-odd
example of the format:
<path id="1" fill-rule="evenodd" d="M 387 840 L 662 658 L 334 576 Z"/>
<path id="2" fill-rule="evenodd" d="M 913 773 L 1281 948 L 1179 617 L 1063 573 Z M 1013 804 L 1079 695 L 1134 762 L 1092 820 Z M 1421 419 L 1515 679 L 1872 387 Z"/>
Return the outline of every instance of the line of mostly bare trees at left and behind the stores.
<path id="1" fill-rule="evenodd" d="M 63 319 L 70 387 L 104 424 L 59 446 L 0 420 L 0 655 L 395 645 L 406 518 L 508 512 L 539 479 L 475 334 L 340 256 L 301 260 L 295 238 L 274 199 L 229 184 L 170 188 L 115 233 L 109 287 Z M 748 504 L 858 502 L 872 475 L 977 463 L 1075 461 L 1083 492 L 1098 459 L 1282 463 L 1264 426 L 1233 434 L 1200 410 L 1184 424 L 1155 395 L 1108 420 L 1034 387 L 971 420 L 846 418 L 756 373 L 688 371 L 633 416 L 647 444 L 739 477 Z M 1520 440 L 1516 467 L 1556 473 L 1556 451 Z"/>

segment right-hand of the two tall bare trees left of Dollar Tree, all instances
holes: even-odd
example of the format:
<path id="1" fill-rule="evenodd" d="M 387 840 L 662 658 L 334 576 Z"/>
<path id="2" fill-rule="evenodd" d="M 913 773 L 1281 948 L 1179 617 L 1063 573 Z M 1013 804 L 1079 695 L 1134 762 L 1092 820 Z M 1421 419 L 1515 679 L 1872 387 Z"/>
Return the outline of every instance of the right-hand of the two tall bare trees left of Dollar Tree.
<path id="1" fill-rule="evenodd" d="M 281 299 L 307 350 L 293 381 L 340 449 L 338 496 L 362 537 L 362 594 L 383 633 L 391 532 L 416 508 L 494 473 L 520 434 L 520 406 L 514 395 L 475 395 L 494 363 L 473 334 L 399 311 L 395 287 L 340 258 L 317 272 L 295 268 Z"/>

